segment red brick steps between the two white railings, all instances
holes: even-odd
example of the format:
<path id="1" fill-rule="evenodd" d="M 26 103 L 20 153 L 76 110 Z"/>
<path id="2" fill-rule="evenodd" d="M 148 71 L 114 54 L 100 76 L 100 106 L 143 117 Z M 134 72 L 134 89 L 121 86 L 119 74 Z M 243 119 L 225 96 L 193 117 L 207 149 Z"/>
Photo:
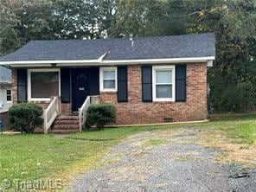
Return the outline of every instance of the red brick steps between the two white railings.
<path id="1" fill-rule="evenodd" d="M 52 133 L 72 133 L 79 131 L 78 116 L 59 116 L 55 119 L 54 124 L 49 132 Z"/>

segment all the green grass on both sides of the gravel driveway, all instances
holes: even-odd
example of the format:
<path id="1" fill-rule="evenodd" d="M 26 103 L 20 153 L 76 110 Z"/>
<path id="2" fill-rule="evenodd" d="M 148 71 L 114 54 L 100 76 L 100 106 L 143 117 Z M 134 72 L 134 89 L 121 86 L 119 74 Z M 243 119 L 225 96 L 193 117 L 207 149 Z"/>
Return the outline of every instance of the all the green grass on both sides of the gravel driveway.
<path id="1" fill-rule="evenodd" d="M 213 121 L 189 125 L 157 125 L 109 128 L 66 137 L 54 135 L 0 136 L 0 182 L 70 176 L 92 169 L 107 151 L 121 139 L 139 131 L 157 131 L 180 127 L 210 127 L 222 131 L 234 143 L 255 144 L 256 113 L 213 115 Z M 159 144 L 151 141 L 150 144 Z"/>

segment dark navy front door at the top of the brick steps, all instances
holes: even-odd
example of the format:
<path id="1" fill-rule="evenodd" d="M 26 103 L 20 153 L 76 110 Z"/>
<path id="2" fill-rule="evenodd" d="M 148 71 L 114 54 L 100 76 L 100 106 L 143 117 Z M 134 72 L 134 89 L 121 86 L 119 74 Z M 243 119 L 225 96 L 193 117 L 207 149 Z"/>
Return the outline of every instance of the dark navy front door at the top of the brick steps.
<path id="1" fill-rule="evenodd" d="M 89 95 L 88 69 L 72 69 L 72 111 L 78 112 Z"/>

